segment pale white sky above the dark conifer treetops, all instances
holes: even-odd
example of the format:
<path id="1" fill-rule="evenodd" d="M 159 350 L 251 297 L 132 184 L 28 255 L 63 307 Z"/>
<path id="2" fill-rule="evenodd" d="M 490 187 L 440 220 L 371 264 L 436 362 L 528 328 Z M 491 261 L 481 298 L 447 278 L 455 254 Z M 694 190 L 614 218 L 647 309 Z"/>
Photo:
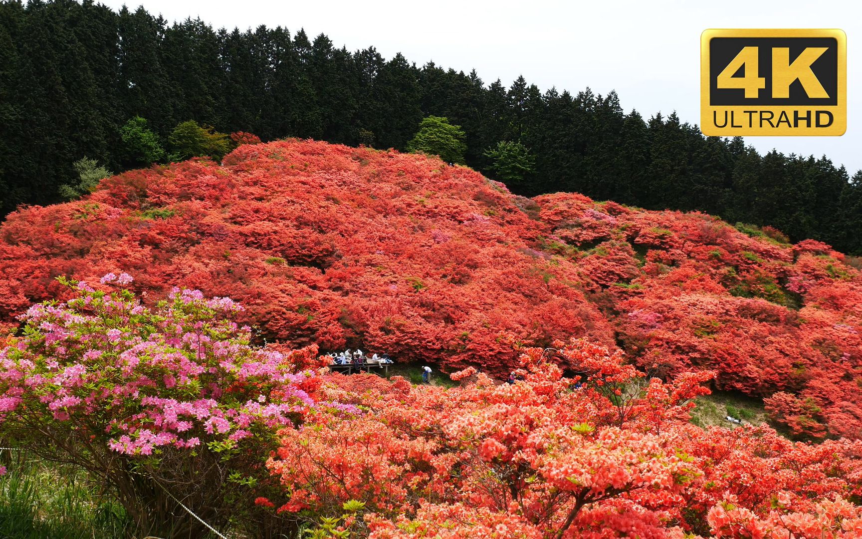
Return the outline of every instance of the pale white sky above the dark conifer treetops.
<path id="1" fill-rule="evenodd" d="M 102 0 L 118 9 L 122 0 Z M 840 137 L 746 137 L 762 153 L 827 155 L 853 174 L 862 169 L 862 2 L 682 0 L 597 2 L 266 2 L 128 0 L 169 21 L 200 16 L 215 28 L 281 25 L 309 38 L 327 34 L 351 51 L 377 47 L 422 66 L 469 72 L 507 87 L 523 75 L 542 91 L 590 86 L 616 90 L 627 112 L 677 110 L 700 123 L 700 34 L 706 28 L 841 28 L 847 34 L 847 131 Z"/>

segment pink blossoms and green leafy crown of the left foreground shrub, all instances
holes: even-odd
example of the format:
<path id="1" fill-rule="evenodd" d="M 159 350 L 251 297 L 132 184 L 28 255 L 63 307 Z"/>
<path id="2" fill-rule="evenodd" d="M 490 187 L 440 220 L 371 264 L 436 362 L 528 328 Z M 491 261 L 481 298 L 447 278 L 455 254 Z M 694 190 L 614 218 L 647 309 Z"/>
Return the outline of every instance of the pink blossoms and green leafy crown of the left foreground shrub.
<path id="1" fill-rule="evenodd" d="M 76 297 L 34 305 L 25 336 L 0 351 L 0 428 L 83 430 L 116 452 L 150 455 L 274 432 L 317 405 L 304 389 L 315 373 L 293 372 L 316 348 L 254 348 L 251 330 L 230 320 L 242 309 L 230 298 L 174 289 L 150 310 L 128 291 L 62 282 Z"/>

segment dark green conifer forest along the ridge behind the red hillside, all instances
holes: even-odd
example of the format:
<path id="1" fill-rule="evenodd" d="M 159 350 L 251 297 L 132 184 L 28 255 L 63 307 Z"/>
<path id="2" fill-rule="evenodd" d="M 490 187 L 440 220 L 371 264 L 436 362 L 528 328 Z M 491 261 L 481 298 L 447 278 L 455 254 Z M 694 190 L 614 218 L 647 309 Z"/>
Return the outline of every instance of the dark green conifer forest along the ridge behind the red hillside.
<path id="1" fill-rule="evenodd" d="M 350 52 L 303 30 L 167 22 L 85 1 L 0 3 L 0 214 L 50 204 L 88 157 L 112 172 L 147 166 L 121 128 L 141 116 L 166 140 L 180 122 L 405 149 L 425 116 L 466 135 L 466 164 L 498 178 L 487 152 L 520 142 L 534 166 L 509 188 L 577 191 L 647 209 L 701 210 L 862 254 L 862 173 L 826 157 L 759 155 L 704 137 L 676 114 L 622 110 L 615 92 L 542 93 L 524 78 L 486 85 L 373 47 Z"/>

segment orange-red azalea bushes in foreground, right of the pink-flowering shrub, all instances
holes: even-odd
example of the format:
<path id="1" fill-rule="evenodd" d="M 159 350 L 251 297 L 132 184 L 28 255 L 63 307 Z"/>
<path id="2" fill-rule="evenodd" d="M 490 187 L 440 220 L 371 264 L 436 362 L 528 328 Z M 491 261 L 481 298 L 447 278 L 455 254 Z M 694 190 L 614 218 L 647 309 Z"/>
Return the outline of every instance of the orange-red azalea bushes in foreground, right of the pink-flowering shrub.
<path id="1" fill-rule="evenodd" d="M 790 442 L 765 427 L 703 431 L 686 412 L 704 377 L 642 381 L 619 354 L 584 341 L 559 344 L 558 354 L 584 379 L 562 378 L 539 349 L 522 357 L 526 374 L 514 385 L 479 373 L 448 390 L 399 381 L 357 391 L 334 378 L 321 394 L 352 394 L 363 413 L 282 429 L 267 466 L 284 492 L 265 502 L 318 523 L 322 536 L 862 530 L 862 509 L 846 501 L 862 493 L 862 442 Z"/>

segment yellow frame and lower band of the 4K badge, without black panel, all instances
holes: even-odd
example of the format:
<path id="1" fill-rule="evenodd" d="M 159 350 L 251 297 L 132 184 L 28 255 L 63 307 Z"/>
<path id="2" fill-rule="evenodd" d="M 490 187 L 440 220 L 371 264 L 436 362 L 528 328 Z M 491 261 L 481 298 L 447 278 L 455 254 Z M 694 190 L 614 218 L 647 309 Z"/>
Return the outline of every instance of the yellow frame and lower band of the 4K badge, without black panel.
<path id="1" fill-rule="evenodd" d="M 709 41 L 715 37 L 831 37 L 838 43 L 838 104 L 831 106 L 711 106 L 709 104 Z M 829 110 L 834 121 L 827 128 L 743 126 L 718 128 L 712 122 L 714 111 L 733 111 L 743 116 L 744 110 L 757 108 L 792 115 L 798 110 Z M 792 117 L 792 116 L 791 116 Z M 726 122 L 729 123 L 729 122 Z M 701 34 L 701 132 L 707 136 L 840 136 L 847 128 L 847 35 L 839 28 L 709 28 Z"/>

